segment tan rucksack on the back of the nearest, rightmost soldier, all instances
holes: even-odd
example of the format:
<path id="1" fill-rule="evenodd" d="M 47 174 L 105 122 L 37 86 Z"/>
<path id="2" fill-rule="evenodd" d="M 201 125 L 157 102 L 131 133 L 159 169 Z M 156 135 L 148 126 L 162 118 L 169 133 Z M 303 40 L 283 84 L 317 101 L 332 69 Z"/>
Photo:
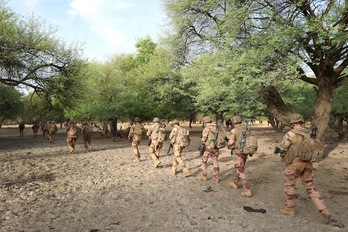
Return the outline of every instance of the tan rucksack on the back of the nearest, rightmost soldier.
<path id="1" fill-rule="evenodd" d="M 302 161 L 319 162 L 323 158 L 321 141 L 315 136 L 317 129 L 318 128 L 314 127 L 310 134 L 299 130 L 291 130 L 302 137 L 302 142 L 298 151 L 298 157 Z"/>

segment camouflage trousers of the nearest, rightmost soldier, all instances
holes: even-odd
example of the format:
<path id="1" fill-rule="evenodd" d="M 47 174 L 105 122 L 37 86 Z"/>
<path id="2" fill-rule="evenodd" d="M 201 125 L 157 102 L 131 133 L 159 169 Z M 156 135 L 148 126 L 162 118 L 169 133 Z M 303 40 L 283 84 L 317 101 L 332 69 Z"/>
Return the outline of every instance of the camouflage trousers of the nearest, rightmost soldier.
<path id="1" fill-rule="evenodd" d="M 288 210 L 295 209 L 295 184 L 297 178 L 301 178 L 301 182 L 304 185 L 308 196 L 312 199 L 315 207 L 318 211 L 326 209 L 323 199 L 319 192 L 315 189 L 313 184 L 313 164 L 312 162 L 304 162 L 299 158 L 295 158 L 294 161 L 289 164 L 284 172 L 285 183 L 285 207 Z"/>

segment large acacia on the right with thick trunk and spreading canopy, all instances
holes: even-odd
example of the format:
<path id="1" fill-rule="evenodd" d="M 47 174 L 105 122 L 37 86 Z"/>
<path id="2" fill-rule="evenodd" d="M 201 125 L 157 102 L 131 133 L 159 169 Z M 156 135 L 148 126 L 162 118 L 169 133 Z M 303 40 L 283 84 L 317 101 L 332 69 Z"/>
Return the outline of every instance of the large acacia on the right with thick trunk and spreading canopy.
<path id="1" fill-rule="evenodd" d="M 174 45 L 182 44 L 176 50 L 181 57 L 219 49 L 231 52 L 236 48 L 251 49 L 257 55 L 266 52 L 266 60 L 251 56 L 247 68 L 257 69 L 255 78 L 265 77 L 262 72 L 281 70 L 284 61 L 290 62 L 292 70 L 297 71 L 294 77 L 317 88 L 313 121 L 319 125 L 318 137 L 324 135 L 333 91 L 347 77 L 344 74 L 348 64 L 346 1 L 164 2 L 176 26 L 176 34 L 171 38 L 175 38 Z M 267 106 L 276 109 L 270 113 L 287 124 L 292 109 L 281 100 L 277 86 L 260 87 L 265 90 L 261 96 Z M 279 99 L 278 108 L 272 103 L 274 97 Z"/>

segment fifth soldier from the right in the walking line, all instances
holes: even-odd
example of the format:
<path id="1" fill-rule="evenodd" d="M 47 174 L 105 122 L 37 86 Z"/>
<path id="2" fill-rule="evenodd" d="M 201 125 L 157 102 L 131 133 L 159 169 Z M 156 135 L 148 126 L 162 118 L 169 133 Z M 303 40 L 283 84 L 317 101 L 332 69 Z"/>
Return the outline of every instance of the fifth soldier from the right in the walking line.
<path id="1" fill-rule="evenodd" d="M 165 124 L 160 123 L 159 118 L 154 118 L 151 125 L 146 133 L 150 138 L 149 155 L 151 156 L 154 167 L 157 168 L 161 161 L 159 161 L 159 153 L 165 140 Z"/>

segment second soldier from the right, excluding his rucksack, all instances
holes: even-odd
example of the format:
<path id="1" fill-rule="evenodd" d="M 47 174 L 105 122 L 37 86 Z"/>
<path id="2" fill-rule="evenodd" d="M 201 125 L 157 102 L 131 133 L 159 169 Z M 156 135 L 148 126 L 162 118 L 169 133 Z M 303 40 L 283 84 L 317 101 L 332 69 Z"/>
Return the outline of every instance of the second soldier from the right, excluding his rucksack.
<path id="1" fill-rule="evenodd" d="M 234 179 L 232 182 L 230 182 L 230 186 L 234 189 L 238 189 L 238 183 L 240 180 L 242 180 L 243 183 L 243 191 L 241 192 L 241 195 L 243 197 L 251 197 L 252 193 L 250 190 L 250 185 L 248 183 L 246 174 L 245 174 L 245 163 L 248 158 L 248 154 L 243 154 L 241 152 L 240 144 L 243 137 L 242 132 L 242 119 L 239 116 L 233 116 L 231 119 L 233 129 L 231 130 L 229 136 L 228 136 L 228 143 L 227 147 L 228 149 L 234 150 Z"/>

